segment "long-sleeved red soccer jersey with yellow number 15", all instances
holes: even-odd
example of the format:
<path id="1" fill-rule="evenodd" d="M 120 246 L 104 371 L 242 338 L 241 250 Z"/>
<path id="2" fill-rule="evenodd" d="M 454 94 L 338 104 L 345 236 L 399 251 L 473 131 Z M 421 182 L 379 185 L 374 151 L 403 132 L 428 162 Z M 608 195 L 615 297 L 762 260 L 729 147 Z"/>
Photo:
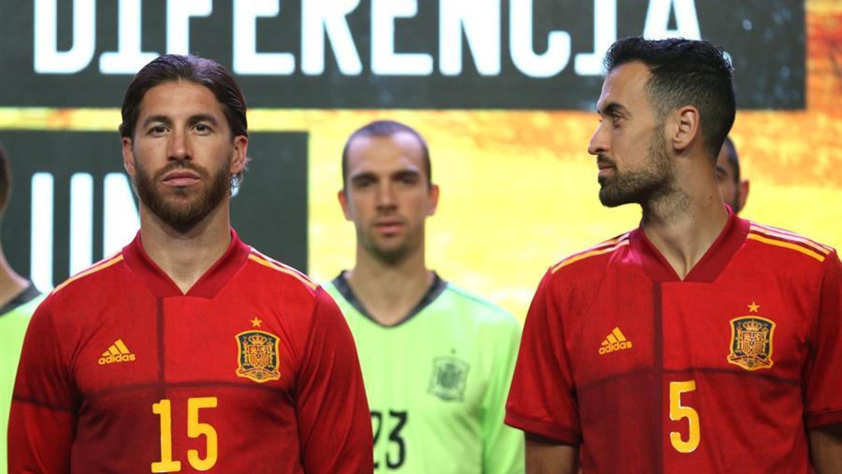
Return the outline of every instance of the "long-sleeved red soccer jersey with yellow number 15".
<path id="1" fill-rule="evenodd" d="M 24 340 L 10 472 L 370 473 L 342 313 L 232 232 L 183 295 L 140 236 L 52 294 Z"/>

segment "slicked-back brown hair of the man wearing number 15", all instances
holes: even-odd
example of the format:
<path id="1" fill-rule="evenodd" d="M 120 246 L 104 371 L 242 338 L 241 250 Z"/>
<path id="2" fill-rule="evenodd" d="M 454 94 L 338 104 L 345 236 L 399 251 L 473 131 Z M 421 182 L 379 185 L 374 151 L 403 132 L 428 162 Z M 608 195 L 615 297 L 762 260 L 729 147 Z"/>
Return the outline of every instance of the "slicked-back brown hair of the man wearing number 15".
<path id="1" fill-rule="evenodd" d="M 234 78 L 218 62 L 199 56 L 164 55 L 137 72 L 123 97 L 120 136 L 133 139 L 143 97 L 157 85 L 188 81 L 205 86 L 216 97 L 234 136 L 248 136 L 246 99 Z M 242 182 L 242 172 L 231 178 L 232 187 Z"/>

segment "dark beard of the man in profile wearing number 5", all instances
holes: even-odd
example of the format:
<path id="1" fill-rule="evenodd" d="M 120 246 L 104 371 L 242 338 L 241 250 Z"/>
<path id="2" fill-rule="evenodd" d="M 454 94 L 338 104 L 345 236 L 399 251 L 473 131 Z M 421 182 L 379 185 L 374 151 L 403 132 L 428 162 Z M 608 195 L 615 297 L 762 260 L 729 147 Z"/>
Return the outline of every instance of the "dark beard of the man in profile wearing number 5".
<path id="1" fill-rule="evenodd" d="M 655 136 L 648 150 L 651 165 L 648 168 L 619 170 L 611 178 L 599 178 L 600 202 L 605 207 L 624 204 L 645 204 L 659 194 L 668 193 L 672 181 L 669 156 L 663 139 Z M 616 169 L 616 168 L 615 168 Z"/>

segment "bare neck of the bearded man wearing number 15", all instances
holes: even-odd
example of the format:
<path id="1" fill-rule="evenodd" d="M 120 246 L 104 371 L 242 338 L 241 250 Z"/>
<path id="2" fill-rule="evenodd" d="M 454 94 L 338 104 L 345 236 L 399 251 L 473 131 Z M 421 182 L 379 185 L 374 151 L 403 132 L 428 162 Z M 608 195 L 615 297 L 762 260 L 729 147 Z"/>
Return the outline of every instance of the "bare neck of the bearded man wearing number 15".
<path id="1" fill-rule="evenodd" d="M 179 232 L 141 205 L 141 242 L 149 258 L 187 293 L 231 243 L 228 201 L 187 232 Z"/>

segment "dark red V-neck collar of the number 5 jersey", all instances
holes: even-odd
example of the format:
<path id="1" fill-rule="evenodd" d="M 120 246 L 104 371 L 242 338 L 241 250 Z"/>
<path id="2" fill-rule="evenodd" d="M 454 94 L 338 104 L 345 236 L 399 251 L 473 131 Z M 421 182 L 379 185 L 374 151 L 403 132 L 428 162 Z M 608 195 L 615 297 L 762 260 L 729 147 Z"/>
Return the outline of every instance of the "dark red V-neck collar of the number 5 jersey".
<path id="1" fill-rule="evenodd" d="M 725 227 L 722 228 L 717 240 L 713 241 L 711 248 L 708 248 L 699 262 L 695 264 L 693 269 L 690 269 L 690 273 L 687 274 L 684 281 L 711 282 L 716 280 L 728 262 L 731 261 L 733 254 L 737 253 L 737 250 L 743 245 L 746 236 L 749 235 L 749 221 L 740 219 L 733 213 L 730 206 L 725 205 L 725 209 L 728 211 L 728 220 Z M 643 270 L 651 280 L 655 282 L 681 281 L 667 259 L 663 258 L 658 248 L 655 248 L 646 237 L 642 226 L 632 231 L 629 238 L 632 253 L 638 258 Z"/>

